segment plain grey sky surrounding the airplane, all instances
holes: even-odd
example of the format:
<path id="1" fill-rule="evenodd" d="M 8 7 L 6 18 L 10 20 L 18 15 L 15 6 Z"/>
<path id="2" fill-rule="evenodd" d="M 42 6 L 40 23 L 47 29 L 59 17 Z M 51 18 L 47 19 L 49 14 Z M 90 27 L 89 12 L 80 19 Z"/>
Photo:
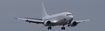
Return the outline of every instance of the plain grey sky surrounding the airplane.
<path id="1" fill-rule="evenodd" d="M 105 31 L 105 0 L 42 0 L 47 13 L 71 12 L 74 20 L 90 19 L 65 31 Z M 16 20 L 17 17 L 41 18 L 41 0 L 0 0 L 0 31 L 48 31 L 47 27 Z M 61 26 L 51 31 L 61 31 Z"/>

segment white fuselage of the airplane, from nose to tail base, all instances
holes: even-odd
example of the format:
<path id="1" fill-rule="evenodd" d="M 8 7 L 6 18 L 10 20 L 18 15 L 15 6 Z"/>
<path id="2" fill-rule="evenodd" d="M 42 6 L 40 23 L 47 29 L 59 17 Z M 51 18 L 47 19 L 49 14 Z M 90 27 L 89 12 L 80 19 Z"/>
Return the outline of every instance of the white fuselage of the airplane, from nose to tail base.
<path id="1" fill-rule="evenodd" d="M 50 26 L 66 25 L 73 20 L 73 15 L 72 13 L 69 13 L 69 12 L 63 12 L 55 15 L 50 15 L 48 17 L 44 17 L 44 19 L 51 21 Z M 45 26 L 49 26 L 49 25 L 45 25 Z"/>

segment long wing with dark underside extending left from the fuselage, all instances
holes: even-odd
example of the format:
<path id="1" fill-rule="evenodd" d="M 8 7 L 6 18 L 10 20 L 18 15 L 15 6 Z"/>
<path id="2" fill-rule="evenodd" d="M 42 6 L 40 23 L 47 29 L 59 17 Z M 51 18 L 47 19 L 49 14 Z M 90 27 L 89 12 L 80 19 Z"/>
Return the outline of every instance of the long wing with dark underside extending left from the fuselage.
<path id="1" fill-rule="evenodd" d="M 36 18 L 16 18 L 19 20 L 25 20 L 26 22 L 29 23 L 36 23 L 36 24 L 43 24 L 44 21 L 42 21 L 42 19 L 36 19 Z"/>

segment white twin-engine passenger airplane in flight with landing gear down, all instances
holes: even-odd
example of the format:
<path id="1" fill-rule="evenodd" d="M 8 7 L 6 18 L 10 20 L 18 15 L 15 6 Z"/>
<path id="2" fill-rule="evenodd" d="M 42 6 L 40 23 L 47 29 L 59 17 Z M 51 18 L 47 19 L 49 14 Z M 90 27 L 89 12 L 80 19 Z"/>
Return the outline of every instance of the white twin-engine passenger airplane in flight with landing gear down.
<path id="1" fill-rule="evenodd" d="M 90 19 L 75 21 L 73 20 L 73 14 L 70 12 L 62 12 L 54 15 L 48 15 L 46 13 L 43 1 L 41 2 L 42 2 L 42 14 L 43 14 L 42 18 L 24 17 L 24 18 L 15 18 L 15 19 L 25 20 L 26 22 L 29 23 L 43 24 L 44 26 L 48 27 L 48 30 L 51 30 L 52 27 L 54 26 L 62 26 L 61 30 L 65 30 L 65 25 L 67 25 L 68 27 L 75 27 L 79 23 L 90 21 Z"/>

